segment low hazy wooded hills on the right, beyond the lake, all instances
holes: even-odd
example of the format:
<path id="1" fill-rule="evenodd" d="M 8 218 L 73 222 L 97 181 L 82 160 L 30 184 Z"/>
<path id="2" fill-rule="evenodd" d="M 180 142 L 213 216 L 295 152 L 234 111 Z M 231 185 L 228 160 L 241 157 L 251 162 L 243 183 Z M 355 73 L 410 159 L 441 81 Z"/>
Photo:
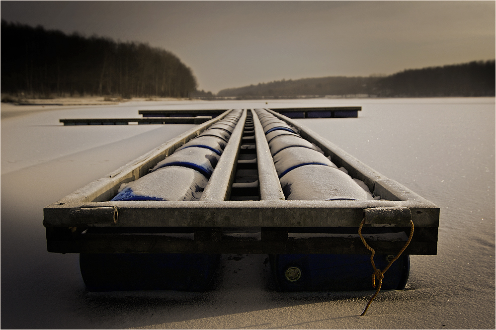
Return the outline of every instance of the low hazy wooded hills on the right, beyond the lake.
<path id="1" fill-rule="evenodd" d="M 258 83 L 219 91 L 240 98 L 288 96 L 442 97 L 495 96 L 495 61 L 479 61 L 386 77 L 325 77 Z"/>

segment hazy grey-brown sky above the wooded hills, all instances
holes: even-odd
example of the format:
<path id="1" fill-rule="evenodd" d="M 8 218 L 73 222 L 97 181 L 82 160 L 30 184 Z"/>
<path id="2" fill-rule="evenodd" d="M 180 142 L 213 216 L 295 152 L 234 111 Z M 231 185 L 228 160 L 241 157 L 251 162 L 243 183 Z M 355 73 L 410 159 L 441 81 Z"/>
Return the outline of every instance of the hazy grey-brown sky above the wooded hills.
<path id="1" fill-rule="evenodd" d="M 0 16 L 164 48 L 192 69 L 198 89 L 217 93 L 282 79 L 389 75 L 493 60 L 495 4 L 3 0 Z"/>

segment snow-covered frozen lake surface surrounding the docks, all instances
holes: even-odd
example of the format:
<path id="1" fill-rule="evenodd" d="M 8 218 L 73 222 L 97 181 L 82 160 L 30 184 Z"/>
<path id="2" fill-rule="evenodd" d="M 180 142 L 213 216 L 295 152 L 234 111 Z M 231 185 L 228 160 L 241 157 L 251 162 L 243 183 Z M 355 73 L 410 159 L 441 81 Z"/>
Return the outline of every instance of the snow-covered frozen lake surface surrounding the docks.
<path id="1" fill-rule="evenodd" d="M 127 102 L 5 117 L 2 104 L 1 328 L 495 328 L 494 97 L 267 102 Z M 411 256 L 406 290 L 382 291 L 365 317 L 372 292 L 275 291 L 266 255 L 223 255 L 206 293 L 90 293 L 79 255 L 46 251 L 44 206 L 193 127 L 59 118 L 295 104 L 362 106 L 358 118 L 298 121 L 441 210 L 438 254 Z"/>

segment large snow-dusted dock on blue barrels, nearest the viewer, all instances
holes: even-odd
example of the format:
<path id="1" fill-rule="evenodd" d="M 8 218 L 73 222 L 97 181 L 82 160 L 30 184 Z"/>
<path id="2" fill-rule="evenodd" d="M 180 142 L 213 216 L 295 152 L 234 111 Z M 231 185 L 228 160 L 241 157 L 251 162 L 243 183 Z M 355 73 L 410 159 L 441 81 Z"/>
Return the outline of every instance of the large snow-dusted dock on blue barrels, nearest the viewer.
<path id="1" fill-rule="evenodd" d="M 206 155 L 202 148 L 210 156 L 195 160 L 198 153 Z M 147 190 L 147 180 L 158 180 L 152 180 L 153 175 L 177 177 L 166 172 L 190 169 L 204 179 L 192 178 L 191 189 L 184 193 L 179 184 L 172 192 Z M 186 197 L 167 200 L 178 191 Z M 317 280 L 308 282 L 301 274 L 305 266 L 296 267 L 300 277 L 289 274 L 293 266 L 281 266 L 282 260 L 306 255 L 305 262 L 315 264 L 315 258 L 308 257 L 348 255 L 351 259 L 342 263 L 341 273 L 346 272 L 356 255 L 370 255 L 358 235 L 362 220 L 363 237 L 377 255 L 388 258 L 402 249 L 410 221 L 415 231 L 404 254 L 437 253 L 439 208 L 433 203 L 276 111 L 237 109 L 45 207 L 43 224 L 48 251 L 57 253 L 189 253 L 214 259 L 220 253 L 267 253 L 277 281 L 284 284 L 285 276 L 303 283 L 298 282 L 303 276 L 305 285 L 280 286 L 294 291 L 314 290 Z M 84 271 L 97 272 L 92 260 Z M 399 268 L 390 270 L 397 276 L 391 288 L 401 288 L 408 278 L 408 260 L 397 262 Z M 319 274 L 330 273 L 321 269 Z M 370 279 L 370 273 L 367 276 Z M 342 288 L 352 287 L 350 282 Z"/>

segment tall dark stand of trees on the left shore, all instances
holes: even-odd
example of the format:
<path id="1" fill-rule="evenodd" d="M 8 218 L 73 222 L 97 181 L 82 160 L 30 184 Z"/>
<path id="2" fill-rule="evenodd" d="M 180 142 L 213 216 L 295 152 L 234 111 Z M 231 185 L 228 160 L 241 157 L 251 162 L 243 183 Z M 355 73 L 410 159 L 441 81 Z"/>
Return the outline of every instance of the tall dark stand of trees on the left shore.
<path id="1" fill-rule="evenodd" d="M 188 97 L 197 86 L 176 56 L 144 43 L 2 20 L 1 46 L 1 92 L 10 94 Z"/>

